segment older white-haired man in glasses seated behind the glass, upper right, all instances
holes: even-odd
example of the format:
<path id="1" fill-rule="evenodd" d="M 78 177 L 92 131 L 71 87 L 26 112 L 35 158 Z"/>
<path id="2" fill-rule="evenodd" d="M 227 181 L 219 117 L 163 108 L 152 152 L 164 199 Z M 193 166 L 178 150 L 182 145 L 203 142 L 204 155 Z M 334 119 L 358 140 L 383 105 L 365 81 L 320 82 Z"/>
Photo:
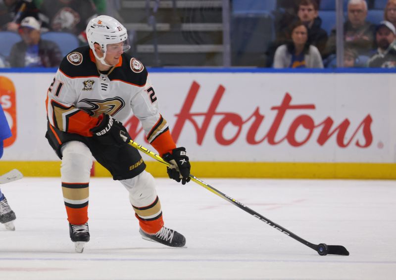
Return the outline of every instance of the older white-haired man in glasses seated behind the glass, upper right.
<path id="1" fill-rule="evenodd" d="M 344 44 L 357 54 L 367 56 L 374 43 L 375 25 L 366 21 L 367 3 L 365 0 L 348 1 L 348 20 L 344 23 Z M 336 29 L 333 29 L 323 57 L 336 53 Z"/>

